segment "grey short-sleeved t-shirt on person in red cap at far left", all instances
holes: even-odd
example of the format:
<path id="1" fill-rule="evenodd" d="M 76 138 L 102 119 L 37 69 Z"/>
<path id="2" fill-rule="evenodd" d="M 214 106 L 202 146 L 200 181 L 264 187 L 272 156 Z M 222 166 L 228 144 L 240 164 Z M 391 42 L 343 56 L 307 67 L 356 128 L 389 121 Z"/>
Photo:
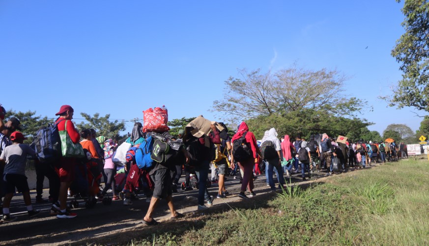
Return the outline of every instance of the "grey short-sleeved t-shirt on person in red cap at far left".
<path id="1" fill-rule="evenodd" d="M 36 153 L 32 148 L 25 144 L 12 144 L 4 148 L 0 156 L 0 159 L 6 161 L 4 173 L 25 175 L 27 155 L 35 157 Z"/>

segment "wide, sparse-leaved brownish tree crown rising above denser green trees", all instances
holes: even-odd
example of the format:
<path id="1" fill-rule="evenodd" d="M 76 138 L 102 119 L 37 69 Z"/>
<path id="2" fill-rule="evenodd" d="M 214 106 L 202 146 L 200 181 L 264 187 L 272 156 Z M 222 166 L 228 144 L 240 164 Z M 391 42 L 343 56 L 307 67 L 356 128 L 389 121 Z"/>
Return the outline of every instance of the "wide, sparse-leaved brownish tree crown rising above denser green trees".
<path id="1" fill-rule="evenodd" d="M 229 77 L 225 81 L 224 98 L 215 100 L 212 108 L 232 122 L 303 109 L 353 116 L 366 105 L 360 99 L 343 95 L 347 77 L 337 70 L 312 71 L 293 65 L 276 74 L 262 73 L 259 69 L 242 69 L 238 74 L 239 78 Z"/>

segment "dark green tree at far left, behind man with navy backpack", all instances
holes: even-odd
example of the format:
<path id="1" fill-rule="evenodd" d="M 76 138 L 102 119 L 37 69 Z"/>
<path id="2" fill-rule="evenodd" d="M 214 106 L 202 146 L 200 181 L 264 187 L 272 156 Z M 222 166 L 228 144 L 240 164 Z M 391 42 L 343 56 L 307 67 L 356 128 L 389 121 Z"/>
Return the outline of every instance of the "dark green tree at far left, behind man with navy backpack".
<path id="1" fill-rule="evenodd" d="M 25 144 L 33 142 L 36 132 L 41 126 L 46 126 L 53 122 L 53 120 L 48 120 L 46 116 L 42 118 L 42 116 L 35 116 L 35 114 L 36 111 L 16 112 L 12 109 L 7 111 L 6 119 L 15 117 L 21 122 L 21 132 L 27 137 L 27 140 L 24 141 Z"/>

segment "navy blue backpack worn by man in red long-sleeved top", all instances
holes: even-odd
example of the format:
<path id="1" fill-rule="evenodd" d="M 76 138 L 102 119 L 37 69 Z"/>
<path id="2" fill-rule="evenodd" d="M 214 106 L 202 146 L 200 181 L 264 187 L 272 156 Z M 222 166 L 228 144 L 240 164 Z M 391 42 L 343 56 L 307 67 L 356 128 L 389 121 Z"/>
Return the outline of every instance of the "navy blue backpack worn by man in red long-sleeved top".
<path id="1" fill-rule="evenodd" d="M 61 139 L 58 133 L 58 123 L 40 127 L 34 138 L 34 151 L 40 162 L 55 162 L 62 156 Z"/>

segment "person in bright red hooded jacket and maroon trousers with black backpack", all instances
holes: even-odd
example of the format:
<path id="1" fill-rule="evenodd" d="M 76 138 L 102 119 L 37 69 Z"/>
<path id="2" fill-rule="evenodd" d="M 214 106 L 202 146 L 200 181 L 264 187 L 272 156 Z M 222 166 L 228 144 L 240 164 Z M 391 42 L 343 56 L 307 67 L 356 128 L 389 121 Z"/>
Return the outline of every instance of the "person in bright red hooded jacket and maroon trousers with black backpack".
<path id="1" fill-rule="evenodd" d="M 240 190 L 240 194 L 238 194 L 239 197 L 241 198 L 248 198 L 244 192 L 246 191 L 246 186 L 249 188 L 249 192 L 250 192 L 250 196 L 249 197 L 254 197 L 256 196 L 255 192 L 253 192 L 253 179 L 252 179 L 252 174 L 253 174 L 253 167 L 255 165 L 255 159 L 257 158 L 257 154 L 259 156 L 262 156 L 259 148 L 257 147 L 257 143 L 256 143 L 256 138 L 255 135 L 253 134 L 253 132 L 249 131 L 249 127 L 247 126 L 247 124 L 245 122 L 242 122 L 240 124 L 240 126 L 238 127 L 238 131 L 237 133 L 235 133 L 235 135 L 232 137 L 232 141 L 231 144 L 232 146 L 234 146 L 234 141 L 242 138 L 244 135 L 244 141 L 247 147 L 249 147 L 251 149 L 251 154 L 249 156 L 249 158 L 247 158 L 246 160 L 237 160 L 237 164 L 240 167 L 240 169 L 243 171 L 243 183 L 241 184 L 241 190 Z M 234 148 L 234 147 L 233 147 Z M 235 151 L 235 149 L 233 149 Z M 233 167 L 233 163 L 234 163 L 234 153 L 232 153 L 232 160 L 231 160 L 231 168 L 234 169 Z"/>

